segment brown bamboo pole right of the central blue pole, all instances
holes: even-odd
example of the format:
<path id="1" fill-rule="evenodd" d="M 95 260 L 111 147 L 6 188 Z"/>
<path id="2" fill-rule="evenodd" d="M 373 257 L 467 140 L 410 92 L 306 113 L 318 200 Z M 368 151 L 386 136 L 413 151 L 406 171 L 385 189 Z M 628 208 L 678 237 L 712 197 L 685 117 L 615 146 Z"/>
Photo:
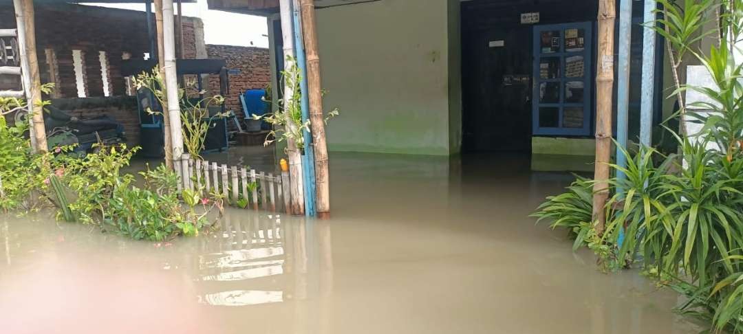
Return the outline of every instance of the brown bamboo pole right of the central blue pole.
<path id="1" fill-rule="evenodd" d="M 317 217 L 330 217 L 330 185 L 328 171 L 328 145 L 325 141 L 325 119 L 322 115 L 322 87 L 320 83 L 320 58 L 315 27 L 313 0 L 302 3 L 302 26 L 307 53 L 307 80 L 310 98 L 310 126 L 315 154 L 315 191 L 317 191 Z"/>

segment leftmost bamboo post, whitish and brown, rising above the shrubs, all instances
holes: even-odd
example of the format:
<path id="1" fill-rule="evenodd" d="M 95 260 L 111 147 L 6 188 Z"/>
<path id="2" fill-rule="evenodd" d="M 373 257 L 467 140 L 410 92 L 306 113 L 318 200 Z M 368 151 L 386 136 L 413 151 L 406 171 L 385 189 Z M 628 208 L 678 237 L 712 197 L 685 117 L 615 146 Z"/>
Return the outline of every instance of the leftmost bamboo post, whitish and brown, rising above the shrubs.
<path id="1" fill-rule="evenodd" d="M 30 115 L 31 148 L 34 152 L 46 152 L 46 128 L 43 111 L 37 106 L 42 102 L 42 84 L 39 77 L 39 59 L 36 56 L 36 27 L 33 17 L 33 0 L 13 0 L 16 10 L 16 33 L 18 38 L 22 83 Z"/>

